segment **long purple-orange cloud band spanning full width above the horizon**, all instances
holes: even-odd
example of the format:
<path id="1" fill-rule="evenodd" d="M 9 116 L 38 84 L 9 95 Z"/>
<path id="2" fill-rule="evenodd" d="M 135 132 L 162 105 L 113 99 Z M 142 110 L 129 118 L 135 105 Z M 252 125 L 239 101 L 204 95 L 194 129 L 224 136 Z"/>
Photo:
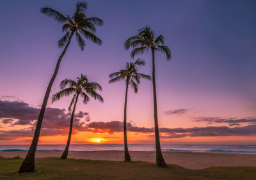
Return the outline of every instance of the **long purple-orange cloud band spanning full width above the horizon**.
<path id="1" fill-rule="evenodd" d="M 31 107 L 28 103 L 19 101 L 0 100 L 1 123 L 16 126 L 23 125 L 26 128 L 20 130 L 0 130 L 1 140 L 24 139 L 33 137 L 36 119 L 40 109 Z M 65 109 L 47 108 L 45 110 L 44 121 L 42 124 L 41 136 L 67 135 L 70 125 L 70 112 Z M 124 123 L 122 121 L 92 122 L 88 112 L 77 112 L 74 116 L 73 134 L 79 131 L 92 133 L 118 133 L 122 132 Z M 230 118 L 221 119 L 218 117 L 197 117 L 195 122 L 206 123 L 228 123 L 228 126 L 206 126 L 193 128 L 159 128 L 161 138 L 173 139 L 181 137 L 221 137 L 221 136 L 251 136 L 256 135 L 255 118 L 246 117 L 241 119 Z M 238 126 L 240 123 L 249 123 L 246 126 Z M 234 127 L 232 127 L 234 126 Z M 147 136 L 154 136 L 154 128 L 145 128 L 127 123 L 127 130 L 134 133 L 143 133 Z"/>

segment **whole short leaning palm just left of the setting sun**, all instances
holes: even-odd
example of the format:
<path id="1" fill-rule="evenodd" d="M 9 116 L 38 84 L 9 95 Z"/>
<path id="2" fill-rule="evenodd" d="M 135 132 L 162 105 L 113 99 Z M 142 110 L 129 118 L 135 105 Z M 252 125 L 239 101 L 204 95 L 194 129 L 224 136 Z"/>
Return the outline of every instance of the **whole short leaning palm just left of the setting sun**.
<path id="1" fill-rule="evenodd" d="M 67 86 L 67 84 L 69 87 L 65 88 Z M 61 159 L 67 159 L 68 148 L 70 145 L 70 140 L 71 140 L 71 135 L 72 135 L 73 117 L 74 117 L 74 113 L 76 110 L 76 103 L 77 103 L 78 97 L 81 96 L 81 98 L 83 98 L 83 103 L 85 103 L 85 104 L 88 101 L 90 101 L 89 96 L 92 96 L 95 100 L 99 100 L 99 101 L 103 102 L 103 98 L 100 96 L 100 94 L 98 94 L 96 92 L 97 90 L 102 91 L 102 87 L 96 82 L 88 82 L 88 78 L 83 74 L 81 74 L 81 77 L 77 77 L 76 81 L 71 80 L 71 79 L 64 79 L 63 81 L 61 81 L 60 87 L 61 87 L 61 89 L 63 89 L 63 88 L 65 88 L 65 89 L 61 90 L 59 93 L 56 93 L 52 96 L 52 103 L 54 101 L 60 100 L 60 98 L 62 98 L 63 96 L 69 96 L 70 94 L 74 93 L 72 101 L 68 107 L 68 110 L 71 111 L 71 107 L 74 104 L 71 119 L 70 119 L 70 127 L 69 127 L 67 145 L 66 145 L 65 150 L 63 151 L 63 154 L 61 156 Z"/>

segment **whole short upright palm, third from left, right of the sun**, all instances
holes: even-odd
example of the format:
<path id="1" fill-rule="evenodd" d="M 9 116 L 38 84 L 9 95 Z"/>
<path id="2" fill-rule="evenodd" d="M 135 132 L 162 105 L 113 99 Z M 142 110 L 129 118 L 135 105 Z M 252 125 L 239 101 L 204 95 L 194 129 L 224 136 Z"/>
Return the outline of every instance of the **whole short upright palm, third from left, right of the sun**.
<path id="1" fill-rule="evenodd" d="M 113 83 L 119 80 L 125 80 L 125 101 L 124 101 L 124 160 L 131 161 L 131 157 L 128 151 L 127 145 L 127 130 L 126 130 L 126 109 L 127 109 L 127 93 L 129 85 L 134 89 L 134 93 L 138 93 L 138 84 L 140 84 L 140 79 L 151 79 L 150 76 L 138 73 L 138 66 L 144 66 L 145 61 L 141 59 L 137 59 L 134 63 L 126 63 L 126 67 L 124 70 L 120 70 L 115 73 L 111 73 L 109 78 L 113 78 L 109 80 L 109 83 Z"/>

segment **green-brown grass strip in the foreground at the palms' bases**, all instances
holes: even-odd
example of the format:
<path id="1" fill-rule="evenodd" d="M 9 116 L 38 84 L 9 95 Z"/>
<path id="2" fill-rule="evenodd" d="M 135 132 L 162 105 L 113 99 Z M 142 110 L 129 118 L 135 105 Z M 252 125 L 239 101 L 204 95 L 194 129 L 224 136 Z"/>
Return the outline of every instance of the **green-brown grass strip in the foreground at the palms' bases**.
<path id="1" fill-rule="evenodd" d="M 35 173 L 19 174 L 20 158 L 0 158 L 0 179 L 256 179 L 256 167 L 214 167 L 191 170 L 132 161 L 36 159 Z"/>

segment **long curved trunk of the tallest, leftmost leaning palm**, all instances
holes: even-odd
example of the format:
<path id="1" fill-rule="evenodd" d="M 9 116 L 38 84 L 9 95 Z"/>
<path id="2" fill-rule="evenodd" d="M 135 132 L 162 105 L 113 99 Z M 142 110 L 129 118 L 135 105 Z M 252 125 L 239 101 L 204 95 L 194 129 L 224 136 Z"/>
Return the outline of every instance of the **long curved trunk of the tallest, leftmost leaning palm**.
<path id="1" fill-rule="evenodd" d="M 47 105 L 47 101 L 51 92 L 51 88 L 52 88 L 52 84 L 57 76 L 58 70 L 60 68 L 60 63 L 61 63 L 61 59 L 64 56 L 65 52 L 67 51 L 68 45 L 70 44 L 70 40 L 73 36 L 74 32 L 71 33 L 70 37 L 68 38 L 68 42 L 67 45 L 65 46 L 63 52 L 61 53 L 54 73 L 52 75 L 52 78 L 48 84 L 48 87 L 46 89 L 45 95 L 44 95 L 44 101 L 42 103 L 42 107 L 38 116 L 38 121 L 36 123 L 36 129 L 35 129 L 35 133 L 34 133 L 34 137 L 33 140 L 31 142 L 31 146 L 29 147 L 28 153 L 26 155 L 26 158 L 24 159 L 24 161 L 22 162 L 22 165 L 20 166 L 19 172 L 34 172 L 35 171 L 35 153 L 36 153 L 36 147 L 38 144 L 38 139 L 40 136 L 40 131 L 41 131 L 41 126 L 42 126 L 42 122 L 44 119 L 44 112 L 45 112 L 45 108 Z"/>

